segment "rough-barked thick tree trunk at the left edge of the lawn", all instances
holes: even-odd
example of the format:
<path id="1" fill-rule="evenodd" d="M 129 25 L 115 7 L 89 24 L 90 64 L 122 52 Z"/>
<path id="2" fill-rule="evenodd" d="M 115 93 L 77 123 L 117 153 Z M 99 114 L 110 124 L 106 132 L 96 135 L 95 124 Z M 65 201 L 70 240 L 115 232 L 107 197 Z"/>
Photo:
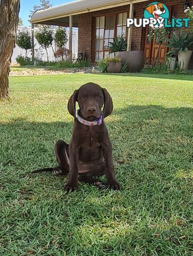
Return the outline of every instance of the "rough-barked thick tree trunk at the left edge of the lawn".
<path id="1" fill-rule="evenodd" d="M 0 99 L 9 97 L 9 72 L 19 10 L 20 0 L 0 1 Z"/>

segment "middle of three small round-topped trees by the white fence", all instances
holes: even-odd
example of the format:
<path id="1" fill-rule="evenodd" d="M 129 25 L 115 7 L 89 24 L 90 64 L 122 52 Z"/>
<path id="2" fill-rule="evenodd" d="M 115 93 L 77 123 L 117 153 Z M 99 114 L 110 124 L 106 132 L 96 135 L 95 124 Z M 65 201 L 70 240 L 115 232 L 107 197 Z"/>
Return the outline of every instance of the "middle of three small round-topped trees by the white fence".
<path id="1" fill-rule="evenodd" d="M 47 53 L 47 61 L 49 61 L 47 48 L 52 45 L 53 42 L 53 32 L 52 30 L 47 29 L 44 27 L 41 31 L 37 31 L 35 37 L 38 43 L 46 50 Z"/>

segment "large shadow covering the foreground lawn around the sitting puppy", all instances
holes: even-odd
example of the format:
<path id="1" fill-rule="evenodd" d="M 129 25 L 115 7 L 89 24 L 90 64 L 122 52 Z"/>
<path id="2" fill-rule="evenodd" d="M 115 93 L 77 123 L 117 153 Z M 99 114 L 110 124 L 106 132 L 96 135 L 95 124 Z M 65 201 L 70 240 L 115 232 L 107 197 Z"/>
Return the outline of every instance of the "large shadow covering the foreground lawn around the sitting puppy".
<path id="1" fill-rule="evenodd" d="M 70 141 L 72 122 L 0 124 L 9 255 L 191 255 L 191 180 L 176 172 L 192 167 L 192 109 L 128 106 L 106 123 L 122 190 L 81 183 L 70 195 L 62 192 L 63 178 L 20 174 L 55 166 L 54 143 Z"/>

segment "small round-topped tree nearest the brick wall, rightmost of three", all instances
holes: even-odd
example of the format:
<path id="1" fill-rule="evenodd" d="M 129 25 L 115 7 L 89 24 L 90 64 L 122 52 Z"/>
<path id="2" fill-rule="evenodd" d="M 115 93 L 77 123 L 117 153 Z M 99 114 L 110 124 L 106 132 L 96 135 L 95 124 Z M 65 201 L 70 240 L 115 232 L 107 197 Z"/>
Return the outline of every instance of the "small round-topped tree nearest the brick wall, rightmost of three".
<path id="1" fill-rule="evenodd" d="M 65 28 L 59 27 L 56 30 L 55 34 L 55 42 L 58 47 L 58 50 L 56 51 L 57 53 L 60 53 L 59 55 L 62 57 L 62 60 L 64 59 L 64 52 L 65 52 L 65 44 L 68 42 L 68 36 L 66 35 L 66 30 Z M 57 54 L 56 54 L 57 55 Z"/>

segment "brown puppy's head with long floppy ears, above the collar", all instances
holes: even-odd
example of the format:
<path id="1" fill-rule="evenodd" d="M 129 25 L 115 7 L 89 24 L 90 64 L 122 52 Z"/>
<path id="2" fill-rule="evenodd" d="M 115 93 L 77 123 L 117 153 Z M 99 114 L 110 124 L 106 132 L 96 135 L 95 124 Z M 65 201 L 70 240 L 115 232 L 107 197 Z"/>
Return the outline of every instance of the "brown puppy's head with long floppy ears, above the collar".
<path id="1" fill-rule="evenodd" d="M 88 121 L 95 121 L 100 117 L 103 108 L 103 118 L 113 111 L 113 102 L 110 94 L 98 84 L 87 83 L 75 90 L 68 102 L 69 113 L 75 121 L 75 102 L 78 102 L 81 115 Z"/>

